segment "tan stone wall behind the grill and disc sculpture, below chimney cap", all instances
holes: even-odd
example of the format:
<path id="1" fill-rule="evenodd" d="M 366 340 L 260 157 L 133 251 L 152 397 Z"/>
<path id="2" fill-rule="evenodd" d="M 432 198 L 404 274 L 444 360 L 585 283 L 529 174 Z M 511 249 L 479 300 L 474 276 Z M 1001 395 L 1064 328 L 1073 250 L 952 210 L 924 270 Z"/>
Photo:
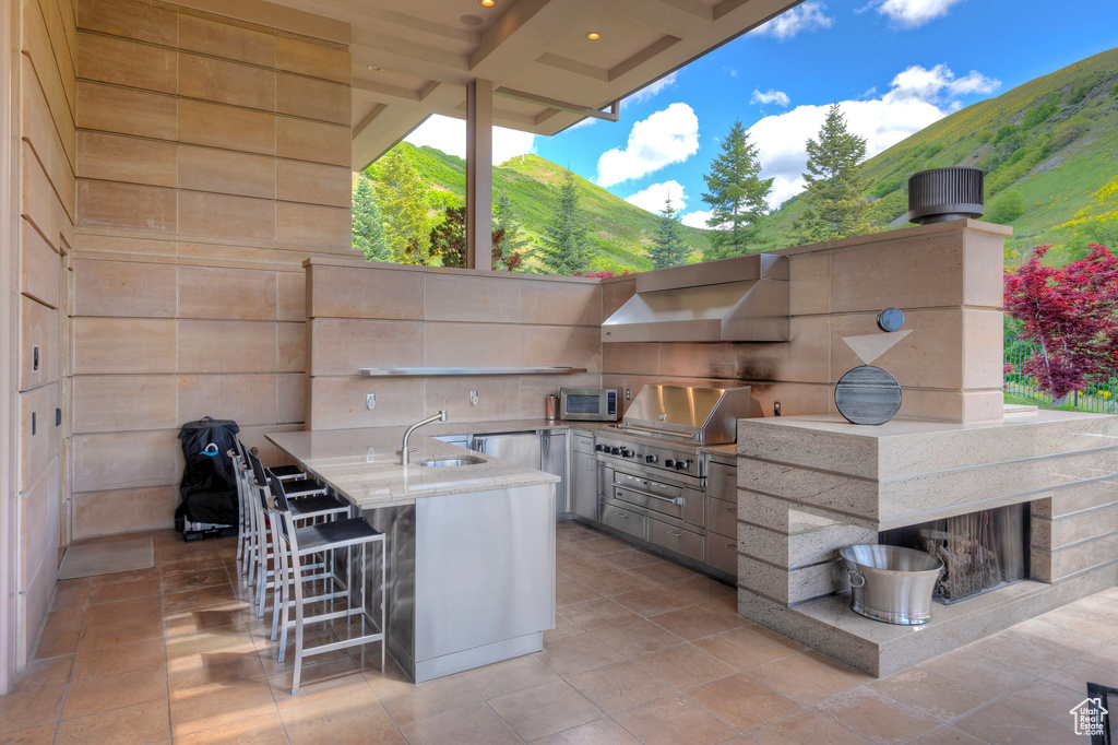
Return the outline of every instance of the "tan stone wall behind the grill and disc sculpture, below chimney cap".
<path id="1" fill-rule="evenodd" d="M 874 365 L 900 383 L 900 416 L 975 422 L 1002 416 L 1002 241 L 975 220 L 787 248 L 792 339 L 780 343 L 605 343 L 605 385 L 745 383 L 766 416 L 836 413 L 834 384 L 861 360 L 845 336 L 879 333 L 884 308 L 912 332 Z M 728 260 L 732 262 L 733 260 Z M 603 283 L 606 315 L 635 280 Z"/>

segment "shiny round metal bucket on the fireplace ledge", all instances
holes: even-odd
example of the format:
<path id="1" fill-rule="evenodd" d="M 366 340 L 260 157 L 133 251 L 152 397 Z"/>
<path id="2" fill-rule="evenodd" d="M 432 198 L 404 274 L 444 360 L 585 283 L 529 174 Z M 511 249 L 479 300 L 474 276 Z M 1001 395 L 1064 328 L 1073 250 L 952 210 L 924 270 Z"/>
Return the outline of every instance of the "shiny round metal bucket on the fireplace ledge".
<path id="1" fill-rule="evenodd" d="M 855 613 L 903 625 L 931 620 L 931 593 L 942 560 L 900 546 L 847 546 L 840 554 L 850 574 L 850 607 Z"/>

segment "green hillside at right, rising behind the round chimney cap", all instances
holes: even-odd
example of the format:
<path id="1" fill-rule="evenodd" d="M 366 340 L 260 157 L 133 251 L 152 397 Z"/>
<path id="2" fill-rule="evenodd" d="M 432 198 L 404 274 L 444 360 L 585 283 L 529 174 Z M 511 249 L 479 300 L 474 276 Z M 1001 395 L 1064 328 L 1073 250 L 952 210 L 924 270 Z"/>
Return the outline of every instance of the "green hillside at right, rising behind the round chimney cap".
<path id="1" fill-rule="evenodd" d="M 1053 245 L 1057 262 L 1088 243 L 1118 248 L 1118 49 L 967 106 L 869 159 L 875 224 L 906 225 L 908 177 L 946 166 L 985 171 L 984 219 L 1014 229 L 1008 263 L 1036 245 Z M 802 211 L 798 197 L 776 210 L 758 251 L 788 245 Z"/>

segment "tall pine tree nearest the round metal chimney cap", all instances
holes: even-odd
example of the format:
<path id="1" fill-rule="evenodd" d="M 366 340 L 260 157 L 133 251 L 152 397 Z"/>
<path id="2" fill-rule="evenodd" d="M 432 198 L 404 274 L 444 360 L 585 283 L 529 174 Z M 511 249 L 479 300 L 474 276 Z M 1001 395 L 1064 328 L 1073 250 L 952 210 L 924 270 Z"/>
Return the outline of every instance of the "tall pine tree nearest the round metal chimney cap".
<path id="1" fill-rule="evenodd" d="M 807 141 L 807 154 L 805 208 L 788 238 L 807 244 L 868 233 L 870 205 L 862 197 L 868 181 L 860 176 L 865 138 L 846 131 L 839 104 L 827 111 L 818 140 Z"/>

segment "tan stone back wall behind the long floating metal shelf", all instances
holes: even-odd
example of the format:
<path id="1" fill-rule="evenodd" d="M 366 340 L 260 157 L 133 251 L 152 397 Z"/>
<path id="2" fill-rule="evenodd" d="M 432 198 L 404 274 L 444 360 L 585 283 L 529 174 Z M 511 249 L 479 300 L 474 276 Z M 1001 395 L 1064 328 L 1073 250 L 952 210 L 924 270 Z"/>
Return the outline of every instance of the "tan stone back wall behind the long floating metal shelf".
<path id="1" fill-rule="evenodd" d="M 306 309 L 307 430 L 410 424 L 443 408 L 452 422 L 540 418 L 547 394 L 600 385 L 597 280 L 314 258 Z M 587 371 L 358 375 L 362 367 L 475 366 Z"/>

